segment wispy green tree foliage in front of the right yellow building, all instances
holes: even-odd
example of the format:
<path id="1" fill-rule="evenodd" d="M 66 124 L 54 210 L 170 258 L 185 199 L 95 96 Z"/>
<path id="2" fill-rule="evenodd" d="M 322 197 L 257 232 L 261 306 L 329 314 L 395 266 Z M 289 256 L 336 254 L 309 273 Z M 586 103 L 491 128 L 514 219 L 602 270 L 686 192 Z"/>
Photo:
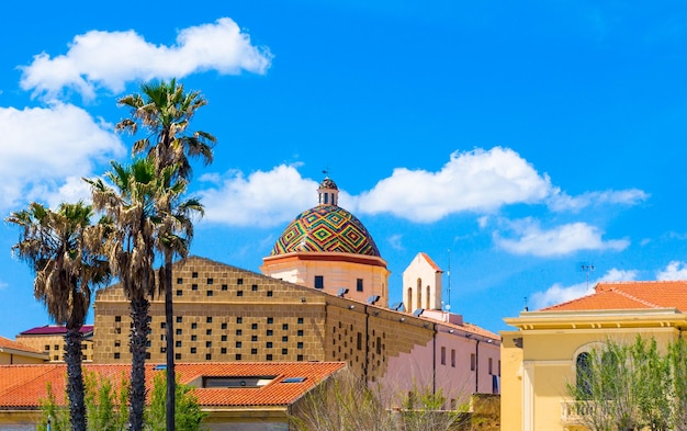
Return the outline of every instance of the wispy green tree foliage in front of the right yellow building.
<path id="1" fill-rule="evenodd" d="M 687 348 L 682 339 L 666 353 L 656 340 L 608 340 L 583 353 L 568 395 L 592 431 L 686 430 Z"/>

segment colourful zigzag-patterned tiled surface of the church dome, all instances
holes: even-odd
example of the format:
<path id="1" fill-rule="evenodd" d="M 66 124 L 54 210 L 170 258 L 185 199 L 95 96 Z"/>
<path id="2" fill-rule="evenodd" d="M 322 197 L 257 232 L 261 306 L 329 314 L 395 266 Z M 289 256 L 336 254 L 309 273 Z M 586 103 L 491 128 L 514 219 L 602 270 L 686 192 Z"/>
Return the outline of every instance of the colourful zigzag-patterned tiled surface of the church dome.
<path id="1" fill-rule="evenodd" d="M 270 256 L 297 251 L 338 251 L 380 257 L 360 220 L 336 205 L 317 205 L 301 213 L 284 229 Z"/>

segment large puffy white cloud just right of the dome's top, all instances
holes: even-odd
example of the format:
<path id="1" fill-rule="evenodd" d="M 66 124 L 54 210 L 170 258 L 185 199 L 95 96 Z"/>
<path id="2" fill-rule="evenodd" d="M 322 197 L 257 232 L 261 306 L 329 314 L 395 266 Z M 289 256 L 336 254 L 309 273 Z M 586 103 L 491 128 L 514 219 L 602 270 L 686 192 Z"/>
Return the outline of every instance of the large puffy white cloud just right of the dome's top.
<path id="1" fill-rule="evenodd" d="M 549 177 L 509 148 L 454 152 L 440 171 L 397 168 L 363 193 L 360 213 L 392 213 L 432 223 L 449 214 L 489 212 L 514 203 L 536 203 L 552 193 Z"/>

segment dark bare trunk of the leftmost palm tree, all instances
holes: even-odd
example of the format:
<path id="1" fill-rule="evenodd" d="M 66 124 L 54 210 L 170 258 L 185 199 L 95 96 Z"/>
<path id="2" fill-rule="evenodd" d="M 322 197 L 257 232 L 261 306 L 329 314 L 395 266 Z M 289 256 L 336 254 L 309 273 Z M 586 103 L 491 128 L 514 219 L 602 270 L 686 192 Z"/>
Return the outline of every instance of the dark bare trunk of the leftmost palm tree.
<path id="1" fill-rule="evenodd" d="M 72 431 L 86 431 L 83 374 L 81 373 L 82 340 L 81 327 L 67 329 L 65 362 L 67 363 L 67 394 L 69 395 L 69 418 Z"/>

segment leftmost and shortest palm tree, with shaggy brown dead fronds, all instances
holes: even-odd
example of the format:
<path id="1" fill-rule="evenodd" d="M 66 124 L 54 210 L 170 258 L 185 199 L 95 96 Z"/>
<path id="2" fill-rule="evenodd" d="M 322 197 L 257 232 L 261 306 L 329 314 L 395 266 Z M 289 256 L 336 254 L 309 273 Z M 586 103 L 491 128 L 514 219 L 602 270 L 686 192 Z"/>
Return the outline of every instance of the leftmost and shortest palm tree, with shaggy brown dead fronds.
<path id="1" fill-rule="evenodd" d="M 108 261 L 101 254 L 103 225 L 92 225 L 92 207 L 82 202 L 60 204 L 56 211 L 31 203 L 7 222 L 21 227 L 12 247 L 36 277 L 34 296 L 45 304 L 57 325 L 65 325 L 67 393 L 71 429 L 86 431 L 81 327 L 91 302 L 91 286 L 109 280 Z"/>

